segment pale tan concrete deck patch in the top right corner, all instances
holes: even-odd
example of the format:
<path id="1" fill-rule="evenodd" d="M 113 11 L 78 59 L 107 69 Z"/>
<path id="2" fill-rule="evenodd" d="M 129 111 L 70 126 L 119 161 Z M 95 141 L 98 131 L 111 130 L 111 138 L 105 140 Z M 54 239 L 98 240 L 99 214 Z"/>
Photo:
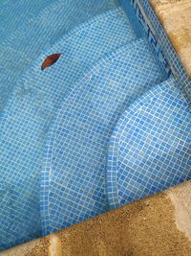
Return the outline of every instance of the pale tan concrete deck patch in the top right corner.
<path id="1" fill-rule="evenodd" d="M 191 0 L 149 0 L 191 78 Z"/>

